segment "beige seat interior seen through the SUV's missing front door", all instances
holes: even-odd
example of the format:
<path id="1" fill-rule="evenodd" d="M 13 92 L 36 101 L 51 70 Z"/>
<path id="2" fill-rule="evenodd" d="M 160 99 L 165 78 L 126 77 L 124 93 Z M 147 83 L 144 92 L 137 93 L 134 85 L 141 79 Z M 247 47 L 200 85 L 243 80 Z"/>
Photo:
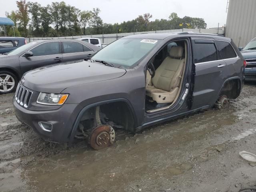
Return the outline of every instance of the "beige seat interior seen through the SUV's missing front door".
<path id="1" fill-rule="evenodd" d="M 146 71 L 147 112 L 169 108 L 177 100 L 185 72 L 185 40 L 170 42 L 149 62 Z"/>

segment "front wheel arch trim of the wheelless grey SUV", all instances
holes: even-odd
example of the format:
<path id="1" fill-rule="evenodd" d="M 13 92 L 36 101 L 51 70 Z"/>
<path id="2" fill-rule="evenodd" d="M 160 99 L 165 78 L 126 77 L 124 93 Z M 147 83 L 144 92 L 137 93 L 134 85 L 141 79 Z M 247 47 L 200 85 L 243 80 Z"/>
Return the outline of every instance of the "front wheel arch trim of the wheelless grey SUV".
<path id="1" fill-rule="evenodd" d="M 135 112 L 134 112 L 134 109 L 133 109 L 131 103 L 127 99 L 125 99 L 125 98 L 105 100 L 105 101 L 89 104 L 88 106 L 85 106 L 84 108 L 82 108 L 82 110 L 79 112 L 79 114 L 78 114 L 78 116 L 76 118 L 76 121 L 74 122 L 72 131 L 70 132 L 69 143 L 72 143 L 72 141 L 74 139 L 74 136 L 76 134 L 76 130 L 77 130 L 78 126 L 79 126 L 80 120 L 82 119 L 82 116 L 84 115 L 84 113 L 87 110 L 90 110 L 91 108 L 94 108 L 96 106 L 106 106 L 106 105 L 110 105 L 111 106 L 111 105 L 114 105 L 114 104 L 118 104 L 118 105 L 122 104 L 122 105 L 126 106 L 126 108 L 123 109 L 123 110 L 126 111 L 125 117 L 128 114 L 128 118 L 126 118 L 125 124 L 128 125 L 129 124 L 128 121 L 131 120 L 130 122 L 132 122 L 133 126 L 130 127 L 130 128 L 126 127 L 125 129 L 129 130 L 129 131 L 134 131 L 135 127 L 137 126 L 137 118 L 136 118 L 136 115 L 135 115 Z M 117 115 L 120 115 L 120 114 L 118 114 L 118 112 L 117 112 Z"/>

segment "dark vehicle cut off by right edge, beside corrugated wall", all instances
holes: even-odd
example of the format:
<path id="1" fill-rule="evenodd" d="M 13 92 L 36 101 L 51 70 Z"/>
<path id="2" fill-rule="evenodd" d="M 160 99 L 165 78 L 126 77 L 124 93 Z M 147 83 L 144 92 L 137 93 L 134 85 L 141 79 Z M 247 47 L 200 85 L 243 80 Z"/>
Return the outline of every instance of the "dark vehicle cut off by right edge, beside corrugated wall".
<path id="1" fill-rule="evenodd" d="M 239 48 L 247 62 L 244 70 L 246 81 L 256 81 L 256 37 L 254 37 L 244 48 Z"/>

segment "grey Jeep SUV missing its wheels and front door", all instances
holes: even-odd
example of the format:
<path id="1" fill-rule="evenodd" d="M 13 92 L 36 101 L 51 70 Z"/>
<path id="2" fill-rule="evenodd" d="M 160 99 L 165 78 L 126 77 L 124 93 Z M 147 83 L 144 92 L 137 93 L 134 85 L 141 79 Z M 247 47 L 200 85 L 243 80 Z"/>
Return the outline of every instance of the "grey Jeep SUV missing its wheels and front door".
<path id="1" fill-rule="evenodd" d="M 237 98 L 244 61 L 229 38 L 192 32 L 116 40 L 86 60 L 24 74 L 13 103 L 18 120 L 44 140 L 86 138 L 99 150 L 115 129 L 153 124 Z"/>

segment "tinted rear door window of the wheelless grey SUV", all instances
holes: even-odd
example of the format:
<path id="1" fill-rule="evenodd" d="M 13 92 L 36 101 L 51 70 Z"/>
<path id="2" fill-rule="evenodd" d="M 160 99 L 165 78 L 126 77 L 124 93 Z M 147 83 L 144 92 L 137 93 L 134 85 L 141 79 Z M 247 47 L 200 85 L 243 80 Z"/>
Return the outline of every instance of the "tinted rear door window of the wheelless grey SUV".
<path id="1" fill-rule="evenodd" d="M 213 41 L 195 40 L 193 52 L 194 63 L 217 60 L 217 51 Z"/>

